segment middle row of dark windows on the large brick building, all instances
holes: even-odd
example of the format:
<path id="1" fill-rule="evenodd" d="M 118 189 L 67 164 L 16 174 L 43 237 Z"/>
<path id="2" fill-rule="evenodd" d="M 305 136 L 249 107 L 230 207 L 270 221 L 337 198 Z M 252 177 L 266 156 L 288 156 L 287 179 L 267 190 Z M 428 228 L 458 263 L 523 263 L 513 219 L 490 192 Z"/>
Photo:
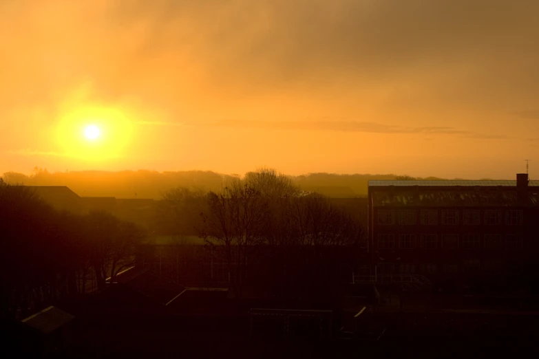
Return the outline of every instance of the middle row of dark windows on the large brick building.
<path id="1" fill-rule="evenodd" d="M 418 241 L 419 239 L 419 241 Z M 395 235 L 378 235 L 379 249 L 485 249 L 485 250 L 519 250 L 522 249 L 522 235 L 442 235 L 438 240 L 438 235 L 398 235 L 397 243 Z M 419 243 L 418 243 L 419 242 Z"/>

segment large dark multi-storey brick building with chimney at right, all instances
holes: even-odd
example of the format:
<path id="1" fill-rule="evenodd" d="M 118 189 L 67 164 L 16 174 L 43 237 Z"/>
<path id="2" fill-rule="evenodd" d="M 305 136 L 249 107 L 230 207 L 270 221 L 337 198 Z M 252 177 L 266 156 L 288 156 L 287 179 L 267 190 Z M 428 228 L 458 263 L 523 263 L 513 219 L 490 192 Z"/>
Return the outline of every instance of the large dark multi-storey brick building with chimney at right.
<path id="1" fill-rule="evenodd" d="M 432 282 L 533 274 L 539 181 L 370 181 L 371 274 Z"/>

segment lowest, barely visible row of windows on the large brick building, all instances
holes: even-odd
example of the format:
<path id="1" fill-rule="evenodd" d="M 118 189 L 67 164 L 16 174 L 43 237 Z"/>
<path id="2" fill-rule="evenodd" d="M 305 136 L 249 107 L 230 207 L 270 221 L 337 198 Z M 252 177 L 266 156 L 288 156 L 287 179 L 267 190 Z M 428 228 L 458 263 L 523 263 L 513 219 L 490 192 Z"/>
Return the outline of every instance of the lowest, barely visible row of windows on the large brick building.
<path id="1" fill-rule="evenodd" d="M 473 274 L 478 272 L 507 272 L 520 273 L 523 267 L 520 261 L 489 260 L 481 263 L 479 260 L 470 259 L 460 263 L 378 263 L 377 274 Z"/>

